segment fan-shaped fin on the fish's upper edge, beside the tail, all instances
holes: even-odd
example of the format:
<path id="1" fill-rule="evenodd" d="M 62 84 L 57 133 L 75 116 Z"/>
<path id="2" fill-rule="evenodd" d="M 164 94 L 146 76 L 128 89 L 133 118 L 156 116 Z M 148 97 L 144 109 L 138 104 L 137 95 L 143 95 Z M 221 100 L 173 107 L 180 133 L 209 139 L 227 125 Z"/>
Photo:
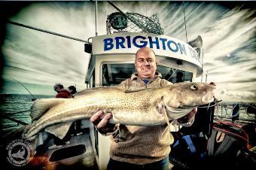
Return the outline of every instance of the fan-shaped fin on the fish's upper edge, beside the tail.
<path id="1" fill-rule="evenodd" d="M 67 99 L 36 99 L 31 108 L 30 117 L 33 121 L 38 120 L 41 115 L 47 112 L 50 108 Z"/>

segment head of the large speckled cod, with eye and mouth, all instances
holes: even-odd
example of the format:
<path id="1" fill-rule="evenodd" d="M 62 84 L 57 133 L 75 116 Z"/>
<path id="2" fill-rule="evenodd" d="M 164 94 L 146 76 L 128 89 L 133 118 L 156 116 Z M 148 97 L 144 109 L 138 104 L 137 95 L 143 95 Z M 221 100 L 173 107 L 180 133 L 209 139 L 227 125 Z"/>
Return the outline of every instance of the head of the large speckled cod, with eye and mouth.
<path id="1" fill-rule="evenodd" d="M 172 108 L 194 108 L 213 102 L 215 86 L 208 83 L 175 83 L 167 87 L 163 102 Z"/>

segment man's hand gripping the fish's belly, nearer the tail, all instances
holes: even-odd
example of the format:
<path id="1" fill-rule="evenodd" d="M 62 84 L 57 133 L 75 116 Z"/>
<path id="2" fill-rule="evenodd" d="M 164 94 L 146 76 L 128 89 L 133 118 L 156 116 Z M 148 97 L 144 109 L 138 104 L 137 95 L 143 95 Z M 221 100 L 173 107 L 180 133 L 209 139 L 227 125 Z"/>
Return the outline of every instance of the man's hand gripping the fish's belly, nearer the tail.
<path id="1" fill-rule="evenodd" d="M 112 118 L 112 114 L 108 112 L 105 114 L 102 110 L 96 111 L 92 117 L 90 117 L 90 121 L 96 126 L 99 131 L 103 133 L 114 132 L 115 125 L 108 123 L 108 121 Z"/>

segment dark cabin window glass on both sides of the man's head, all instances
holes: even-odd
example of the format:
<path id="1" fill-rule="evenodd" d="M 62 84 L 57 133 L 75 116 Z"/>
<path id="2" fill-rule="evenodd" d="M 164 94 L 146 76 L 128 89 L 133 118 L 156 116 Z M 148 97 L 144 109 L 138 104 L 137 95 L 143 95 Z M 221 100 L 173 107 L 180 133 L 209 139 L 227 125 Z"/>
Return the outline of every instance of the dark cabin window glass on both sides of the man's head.
<path id="1" fill-rule="evenodd" d="M 192 81 L 192 72 L 182 71 L 177 68 L 170 68 L 163 65 L 157 65 L 157 71 L 162 77 L 172 83 L 182 81 Z M 103 64 L 102 65 L 102 86 L 116 86 L 126 78 L 130 78 L 135 72 L 133 63 Z"/>

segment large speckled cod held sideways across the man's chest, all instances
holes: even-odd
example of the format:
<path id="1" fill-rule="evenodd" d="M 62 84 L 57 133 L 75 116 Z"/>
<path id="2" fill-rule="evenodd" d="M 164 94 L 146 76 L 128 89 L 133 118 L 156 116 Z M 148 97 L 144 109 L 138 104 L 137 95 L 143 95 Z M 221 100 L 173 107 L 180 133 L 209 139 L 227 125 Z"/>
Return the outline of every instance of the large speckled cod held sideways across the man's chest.
<path id="1" fill-rule="evenodd" d="M 99 109 L 111 111 L 109 123 L 155 126 L 212 102 L 214 90 L 207 83 L 175 83 L 135 91 L 98 87 L 78 92 L 72 99 L 37 99 L 32 105 L 33 123 L 24 130 L 23 137 L 32 138 L 45 129 L 64 138 L 75 120 L 90 119 Z"/>

